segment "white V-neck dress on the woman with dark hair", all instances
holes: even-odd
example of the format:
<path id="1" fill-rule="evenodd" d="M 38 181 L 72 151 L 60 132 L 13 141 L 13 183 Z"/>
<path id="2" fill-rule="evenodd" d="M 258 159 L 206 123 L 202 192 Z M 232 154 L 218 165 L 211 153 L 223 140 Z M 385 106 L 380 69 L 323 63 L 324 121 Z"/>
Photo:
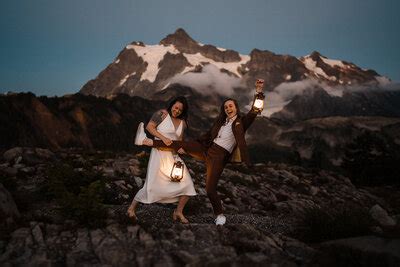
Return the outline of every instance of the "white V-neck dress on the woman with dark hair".
<path id="1" fill-rule="evenodd" d="M 168 114 L 165 119 L 157 126 L 157 131 L 171 140 L 178 140 L 182 134 L 183 123 L 180 122 L 177 129 Z M 180 159 L 178 155 L 176 157 Z M 183 160 L 181 160 L 183 162 Z M 173 203 L 179 200 L 179 196 L 194 196 L 192 177 L 188 168 L 184 167 L 183 178 L 180 182 L 172 182 L 170 174 L 175 158 L 171 151 L 161 151 L 156 148 L 151 149 L 149 164 L 147 166 L 146 181 L 140 189 L 135 200 L 141 203 Z"/>

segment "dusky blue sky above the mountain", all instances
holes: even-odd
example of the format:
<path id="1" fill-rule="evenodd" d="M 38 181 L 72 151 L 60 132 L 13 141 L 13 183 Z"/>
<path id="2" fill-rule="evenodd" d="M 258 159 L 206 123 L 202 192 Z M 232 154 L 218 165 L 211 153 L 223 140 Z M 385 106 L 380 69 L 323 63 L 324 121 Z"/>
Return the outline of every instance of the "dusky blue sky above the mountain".
<path id="1" fill-rule="evenodd" d="M 398 82 L 399 10 L 397 0 L 1 1 L 0 92 L 76 93 L 127 44 L 177 28 L 241 54 L 317 50 Z"/>

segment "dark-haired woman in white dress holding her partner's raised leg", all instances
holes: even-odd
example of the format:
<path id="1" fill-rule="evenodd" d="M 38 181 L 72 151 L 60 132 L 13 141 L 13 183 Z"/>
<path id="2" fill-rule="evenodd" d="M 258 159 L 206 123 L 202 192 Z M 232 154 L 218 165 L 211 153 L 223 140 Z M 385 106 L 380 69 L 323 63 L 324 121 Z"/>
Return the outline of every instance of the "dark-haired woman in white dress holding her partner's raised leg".
<path id="1" fill-rule="evenodd" d="M 183 132 L 187 127 L 187 114 L 186 98 L 177 97 L 170 102 L 167 110 L 159 110 L 154 113 L 146 129 L 156 139 L 170 145 L 173 140 L 182 140 Z M 143 127 L 143 123 L 139 125 L 139 128 L 141 127 Z M 182 152 L 178 151 L 178 153 Z M 186 166 L 182 180 L 180 182 L 171 181 L 170 174 L 175 159 L 181 160 L 177 154 L 173 153 L 152 148 L 147 166 L 146 181 L 143 188 L 135 195 L 127 211 L 128 216 L 133 221 L 137 220 L 136 208 L 139 202 L 145 204 L 178 202 L 172 215 L 173 220 L 179 220 L 185 224 L 189 223 L 183 215 L 183 208 L 189 200 L 189 196 L 196 195 L 196 191 Z"/>

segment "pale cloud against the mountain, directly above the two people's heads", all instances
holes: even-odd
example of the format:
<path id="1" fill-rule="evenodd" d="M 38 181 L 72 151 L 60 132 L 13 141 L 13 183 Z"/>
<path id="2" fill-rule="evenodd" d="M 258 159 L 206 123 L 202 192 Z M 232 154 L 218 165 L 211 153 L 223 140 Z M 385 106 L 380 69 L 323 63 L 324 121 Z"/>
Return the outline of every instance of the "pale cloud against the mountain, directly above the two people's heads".
<path id="1" fill-rule="evenodd" d="M 190 86 L 205 95 L 218 93 L 223 96 L 231 96 L 233 89 L 240 87 L 241 79 L 229 76 L 216 66 L 208 64 L 203 67 L 201 72 L 177 74 L 170 80 L 170 83 Z"/>

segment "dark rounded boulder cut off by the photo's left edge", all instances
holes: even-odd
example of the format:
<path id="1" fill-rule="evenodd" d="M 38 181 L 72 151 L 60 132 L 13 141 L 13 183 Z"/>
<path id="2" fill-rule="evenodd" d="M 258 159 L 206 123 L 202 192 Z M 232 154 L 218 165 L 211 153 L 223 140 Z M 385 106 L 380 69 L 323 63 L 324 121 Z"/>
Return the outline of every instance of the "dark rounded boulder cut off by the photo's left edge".
<path id="1" fill-rule="evenodd" d="M 20 217 L 11 194 L 0 183 L 0 224 L 11 226 Z"/>

